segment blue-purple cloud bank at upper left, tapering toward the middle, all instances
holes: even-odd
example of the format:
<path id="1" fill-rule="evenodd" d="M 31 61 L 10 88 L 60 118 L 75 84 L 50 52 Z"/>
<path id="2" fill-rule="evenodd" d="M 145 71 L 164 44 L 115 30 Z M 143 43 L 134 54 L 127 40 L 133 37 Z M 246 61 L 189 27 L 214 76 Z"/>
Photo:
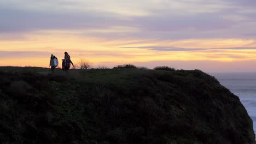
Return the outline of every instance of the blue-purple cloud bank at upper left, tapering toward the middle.
<path id="1" fill-rule="evenodd" d="M 125 23 L 106 13 L 51 13 L 0 7 L 0 32 L 27 32 L 37 30 L 97 29 Z"/>

